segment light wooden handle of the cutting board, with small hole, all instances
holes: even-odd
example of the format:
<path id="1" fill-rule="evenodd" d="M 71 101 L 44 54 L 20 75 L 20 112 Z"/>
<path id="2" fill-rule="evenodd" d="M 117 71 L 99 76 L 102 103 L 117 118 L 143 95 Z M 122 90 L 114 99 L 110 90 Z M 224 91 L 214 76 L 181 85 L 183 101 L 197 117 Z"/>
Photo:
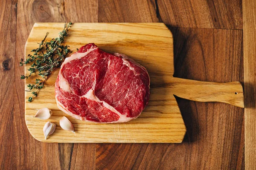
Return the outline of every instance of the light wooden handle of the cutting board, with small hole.
<path id="1" fill-rule="evenodd" d="M 244 108 L 244 92 L 240 82 L 202 82 L 174 78 L 175 96 L 197 102 L 223 102 Z"/>

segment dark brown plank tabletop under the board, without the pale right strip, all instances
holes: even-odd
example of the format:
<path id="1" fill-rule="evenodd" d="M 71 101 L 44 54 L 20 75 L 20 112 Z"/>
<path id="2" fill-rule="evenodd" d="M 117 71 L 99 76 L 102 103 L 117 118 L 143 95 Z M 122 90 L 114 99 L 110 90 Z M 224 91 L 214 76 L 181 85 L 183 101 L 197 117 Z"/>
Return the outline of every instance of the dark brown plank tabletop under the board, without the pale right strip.
<path id="1" fill-rule="evenodd" d="M 176 98 L 181 144 L 38 142 L 26 128 L 19 66 L 35 22 L 163 22 L 174 36 L 175 77 L 244 82 L 242 0 L 0 1 L 0 169 L 245 168 L 244 109 L 224 103 Z"/>

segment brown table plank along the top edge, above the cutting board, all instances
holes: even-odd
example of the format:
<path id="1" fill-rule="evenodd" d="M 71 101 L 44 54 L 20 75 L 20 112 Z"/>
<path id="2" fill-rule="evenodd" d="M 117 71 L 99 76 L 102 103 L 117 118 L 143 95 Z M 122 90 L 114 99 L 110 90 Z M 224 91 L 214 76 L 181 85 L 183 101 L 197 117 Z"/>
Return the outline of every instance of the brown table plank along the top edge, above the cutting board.
<path id="1" fill-rule="evenodd" d="M 242 29 L 241 0 L 99 0 L 99 22 Z"/>

